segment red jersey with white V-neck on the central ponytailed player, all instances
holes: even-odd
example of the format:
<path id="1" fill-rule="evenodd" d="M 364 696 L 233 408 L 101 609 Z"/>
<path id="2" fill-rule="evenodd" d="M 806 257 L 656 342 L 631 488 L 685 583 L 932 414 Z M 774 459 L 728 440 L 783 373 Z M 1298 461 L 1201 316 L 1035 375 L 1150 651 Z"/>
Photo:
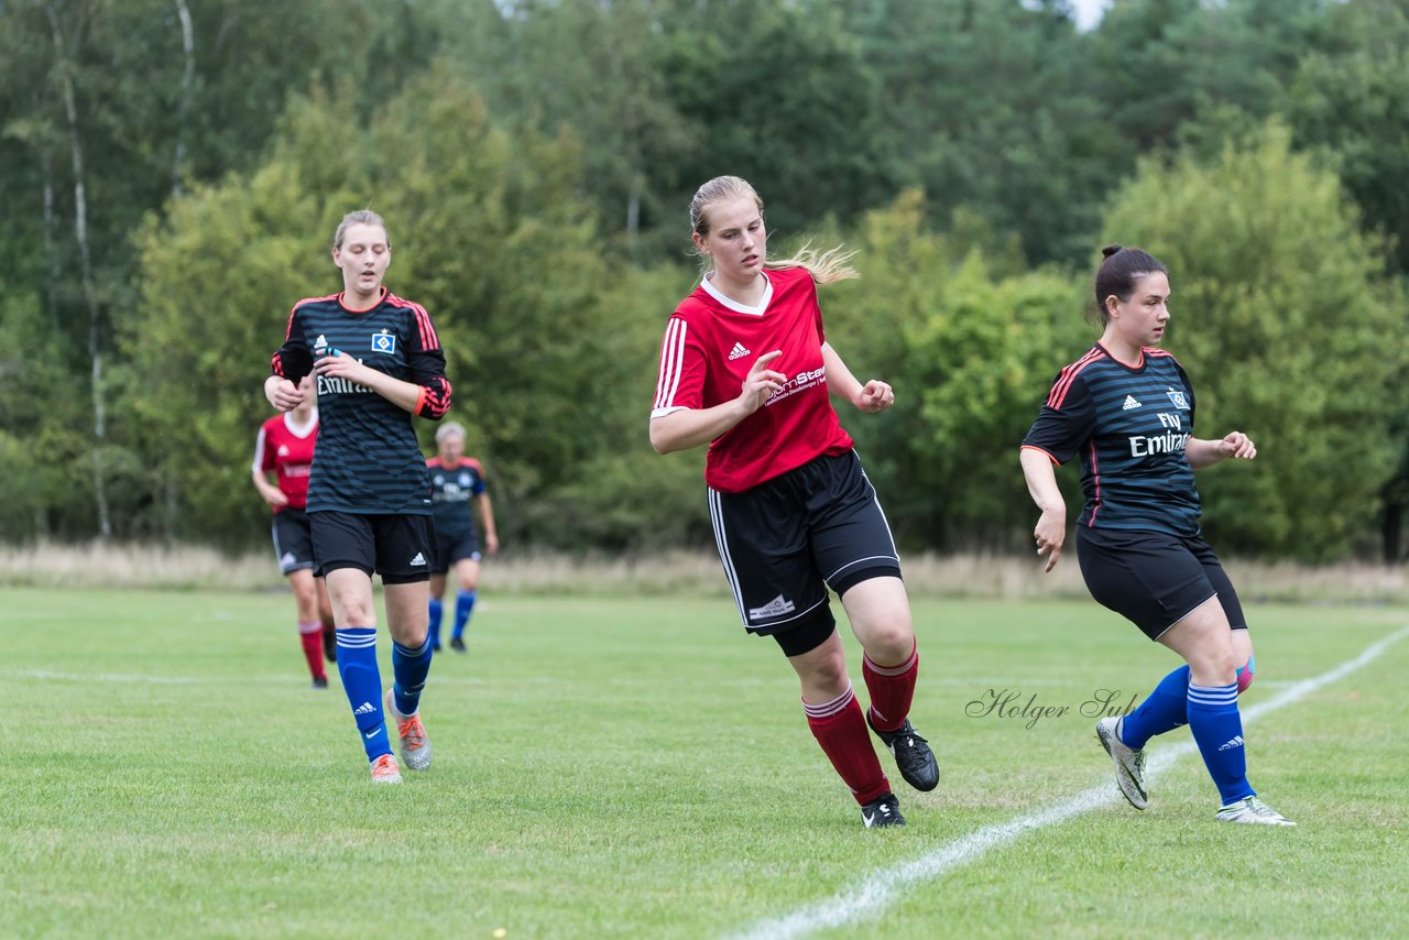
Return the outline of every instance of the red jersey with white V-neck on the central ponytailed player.
<path id="1" fill-rule="evenodd" d="M 814 457 L 851 450 L 851 435 L 827 395 L 826 334 L 812 273 L 790 268 L 764 276 L 768 287 L 757 307 L 702 282 L 675 309 L 661 344 L 652 419 L 737 399 L 754 361 L 782 351 L 769 368 L 786 375 L 788 383 L 709 445 L 704 482 L 724 493 L 758 486 Z"/>

